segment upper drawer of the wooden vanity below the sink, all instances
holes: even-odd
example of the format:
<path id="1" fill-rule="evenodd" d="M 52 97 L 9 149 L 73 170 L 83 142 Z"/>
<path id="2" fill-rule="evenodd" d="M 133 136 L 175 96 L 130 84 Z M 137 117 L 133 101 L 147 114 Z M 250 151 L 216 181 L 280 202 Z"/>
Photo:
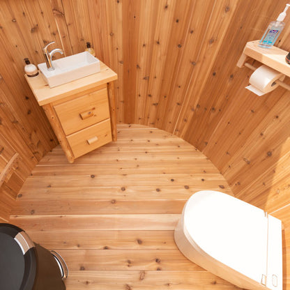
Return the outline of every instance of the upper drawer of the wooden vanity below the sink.
<path id="1" fill-rule="evenodd" d="M 109 118 L 107 87 L 54 106 L 66 135 Z"/>

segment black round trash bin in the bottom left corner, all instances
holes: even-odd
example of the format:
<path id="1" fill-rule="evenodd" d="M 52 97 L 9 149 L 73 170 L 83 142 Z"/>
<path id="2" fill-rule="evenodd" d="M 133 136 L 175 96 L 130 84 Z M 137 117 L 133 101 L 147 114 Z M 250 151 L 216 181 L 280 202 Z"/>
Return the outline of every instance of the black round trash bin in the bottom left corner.
<path id="1" fill-rule="evenodd" d="M 13 224 L 0 223 L 0 289 L 66 290 L 52 253 Z"/>

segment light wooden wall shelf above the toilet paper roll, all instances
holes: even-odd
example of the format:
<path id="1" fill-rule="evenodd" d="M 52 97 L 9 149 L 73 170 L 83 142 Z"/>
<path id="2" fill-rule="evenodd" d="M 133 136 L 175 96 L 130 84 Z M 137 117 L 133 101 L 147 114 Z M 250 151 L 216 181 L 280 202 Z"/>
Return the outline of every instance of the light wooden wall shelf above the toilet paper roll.
<path id="1" fill-rule="evenodd" d="M 254 40 L 245 45 L 237 66 L 242 68 L 247 59 L 252 58 L 290 77 L 290 65 L 285 61 L 288 52 L 275 46 L 270 49 L 262 48 L 258 44 L 259 40 Z"/>

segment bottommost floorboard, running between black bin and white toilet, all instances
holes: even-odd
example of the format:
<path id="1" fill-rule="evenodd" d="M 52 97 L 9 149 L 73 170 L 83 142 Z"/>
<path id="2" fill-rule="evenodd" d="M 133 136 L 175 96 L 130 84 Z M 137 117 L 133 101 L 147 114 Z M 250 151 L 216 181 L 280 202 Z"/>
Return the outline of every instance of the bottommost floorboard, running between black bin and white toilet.
<path id="1" fill-rule="evenodd" d="M 183 273 L 181 278 L 181 273 Z M 72 271 L 72 280 L 66 282 L 68 289 L 237 289 L 233 285 L 221 280 L 208 272 L 194 273 L 192 271 L 88 271 L 86 279 L 82 271 Z"/>

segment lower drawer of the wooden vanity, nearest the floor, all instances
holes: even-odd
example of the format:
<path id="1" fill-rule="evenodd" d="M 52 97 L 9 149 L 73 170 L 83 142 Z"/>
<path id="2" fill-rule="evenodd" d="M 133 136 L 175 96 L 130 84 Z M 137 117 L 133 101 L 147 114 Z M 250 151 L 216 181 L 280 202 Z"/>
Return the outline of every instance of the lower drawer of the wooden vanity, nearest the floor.
<path id="1" fill-rule="evenodd" d="M 67 136 L 75 158 L 112 141 L 111 121 L 107 119 Z"/>

